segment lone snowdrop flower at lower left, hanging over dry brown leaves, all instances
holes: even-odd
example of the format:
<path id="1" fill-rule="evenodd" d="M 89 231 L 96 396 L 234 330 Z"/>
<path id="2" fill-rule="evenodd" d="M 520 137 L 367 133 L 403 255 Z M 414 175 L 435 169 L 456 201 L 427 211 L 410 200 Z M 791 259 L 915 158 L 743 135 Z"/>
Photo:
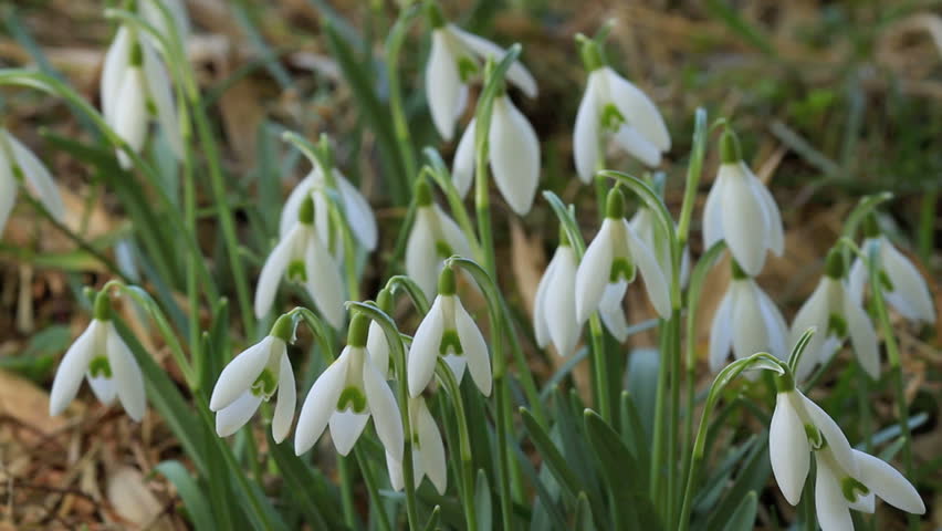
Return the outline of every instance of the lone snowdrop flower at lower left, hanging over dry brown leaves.
<path id="1" fill-rule="evenodd" d="M 147 405 L 140 367 L 112 322 L 111 301 L 104 292 L 95 298 L 88 327 L 62 357 L 52 381 L 50 415 L 65 410 L 83 377 L 102 404 L 109 406 L 117 399 L 132 419 L 144 417 Z"/>

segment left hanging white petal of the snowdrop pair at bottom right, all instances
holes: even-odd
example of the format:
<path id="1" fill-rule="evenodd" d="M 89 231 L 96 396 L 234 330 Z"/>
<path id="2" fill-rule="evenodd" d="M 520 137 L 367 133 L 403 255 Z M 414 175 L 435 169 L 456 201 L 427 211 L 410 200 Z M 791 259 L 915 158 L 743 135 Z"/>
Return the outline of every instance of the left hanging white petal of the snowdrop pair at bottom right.
<path id="1" fill-rule="evenodd" d="M 768 458 L 772 473 L 788 503 L 798 504 L 808 476 L 812 451 L 805 425 L 786 393 L 775 397 L 775 412 L 768 427 Z"/>

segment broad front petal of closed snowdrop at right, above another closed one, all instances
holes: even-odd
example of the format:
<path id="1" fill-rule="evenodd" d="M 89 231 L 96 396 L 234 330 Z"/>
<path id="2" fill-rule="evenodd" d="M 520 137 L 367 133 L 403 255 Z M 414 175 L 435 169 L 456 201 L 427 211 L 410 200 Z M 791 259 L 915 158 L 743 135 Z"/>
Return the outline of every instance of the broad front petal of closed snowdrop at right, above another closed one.
<path id="1" fill-rule="evenodd" d="M 750 277 L 762 272 L 768 242 L 764 207 L 750 186 L 749 176 L 731 175 L 723 184 L 723 237 L 736 262 Z"/>

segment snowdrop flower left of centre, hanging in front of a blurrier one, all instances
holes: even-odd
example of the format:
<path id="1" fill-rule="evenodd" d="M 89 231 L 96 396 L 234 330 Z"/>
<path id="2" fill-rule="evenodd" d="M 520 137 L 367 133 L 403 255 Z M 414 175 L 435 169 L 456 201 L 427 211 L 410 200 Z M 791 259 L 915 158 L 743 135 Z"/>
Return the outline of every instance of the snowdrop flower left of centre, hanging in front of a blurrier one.
<path id="1" fill-rule="evenodd" d="M 262 319 L 274 302 L 281 279 L 303 283 L 317 310 L 331 326 L 344 324 L 344 281 L 334 257 L 314 228 L 314 201 L 306 197 L 297 209 L 297 222 L 269 254 L 255 289 L 255 316 Z"/>

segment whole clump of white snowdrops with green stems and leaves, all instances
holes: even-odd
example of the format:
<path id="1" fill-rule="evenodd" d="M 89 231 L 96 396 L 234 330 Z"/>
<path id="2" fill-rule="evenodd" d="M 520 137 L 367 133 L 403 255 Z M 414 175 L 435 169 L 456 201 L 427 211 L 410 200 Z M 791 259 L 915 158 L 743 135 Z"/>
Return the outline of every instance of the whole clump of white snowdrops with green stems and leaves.
<path id="1" fill-rule="evenodd" d="M 674 219 L 657 171 L 671 149 L 660 112 L 607 62 L 609 28 L 576 35 L 586 86 L 574 118 L 573 176 L 595 188 L 600 212 L 580 227 L 575 206 L 541 192 L 538 134 L 514 103 L 538 92 L 521 46 L 462 30 L 428 2 L 404 9 L 393 27 L 386 106 L 364 85 L 346 38 L 326 29 L 342 70 L 359 83 L 355 92 L 376 104 L 364 113 L 384 113 L 367 119 L 380 138 L 384 186 L 407 207 L 402 222 L 378 226 L 328 135 L 312 142 L 285 131 L 308 174 L 278 222 L 260 223 L 264 240 L 250 243 L 240 238 L 205 95 L 186 60 L 182 4 L 138 0 L 105 15 L 117 30 L 101 113 L 43 73 L 0 71 L 0 84 L 62 97 L 90 124 L 91 144 L 54 140 L 109 176 L 102 179 L 134 226 L 124 242 L 134 260 L 113 262 L 64 225 L 50 171 L 7 131 L 0 228 L 25 188 L 32 208 L 114 274 L 84 293 L 92 319 L 62 357 L 50 414 L 67 415 L 83 381 L 134 420 L 149 404 L 186 454 L 186 467 L 168 461 L 158 471 L 177 486 L 196 529 L 685 530 L 761 521 L 830 531 L 880 527 L 865 516 L 878 499 L 919 527 L 925 506 L 907 479 L 910 412 L 889 312 L 929 322 L 934 309 L 918 269 L 881 232 L 877 207 L 889 195 L 860 200 L 824 258 L 818 288 L 788 325 L 755 281 L 768 253 L 785 250 L 782 216 L 728 121 L 710 123 L 698 111 Z M 443 140 L 458 138 L 450 165 L 436 147 L 417 155 L 405 116 L 396 65 L 418 24 L 430 33 L 432 123 Z M 472 87 L 479 92 L 465 122 Z M 147 150 L 148 142 L 158 148 Z M 710 148 L 719 149 L 719 168 L 703 167 Z M 609 159 L 619 152 L 649 170 L 618 171 Z M 694 259 L 688 241 L 697 189 L 702 173 L 714 170 L 700 225 L 706 251 Z M 163 185 L 168 171 L 171 189 Z M 219 228 L 212 261 L 196 230 L 201 189 Z M 558 221 L 532 322 L 519 319 L 510 283 L 501 282 L 492 197 L 507 216 L 542 202 Z M 388 275 L 363 292 L 366 258 L 381 240 L 396 242 L 383 257 Z M 712 316 L 715 378 L 699 389 L 698 301 L 719 263 L 731 268 L 731 281 Z M 645 292 L 653 319 L 627 322 L 629 289 Z M 116 305 L 149 316 L 182 388 Z M 657 348 L 629 354 L 628 337 L 651 327 Z M 528 368 L 531 344 L 568 361 L 538 379 Z M 845 346 L 854 356 L 838 358 Z M 566 385 L 584 360 L 588 396 Z M 899 425 L 890 428 L 899 435 L 882 452 L 875 455 L 873 433 L 849 440 L 807 396 L 821 374 L 848 363 L 859 366 L 862 387 L 886 377 L 896 391 Z M 724 426 L 737 400 L 753 399 L 763 421 Z M 731 428 L 750 433 L 731 436 Z M 898 451 L 904 473 L 888 464 Z M 777 491 L 767 489 L 770 475 Z"/>

